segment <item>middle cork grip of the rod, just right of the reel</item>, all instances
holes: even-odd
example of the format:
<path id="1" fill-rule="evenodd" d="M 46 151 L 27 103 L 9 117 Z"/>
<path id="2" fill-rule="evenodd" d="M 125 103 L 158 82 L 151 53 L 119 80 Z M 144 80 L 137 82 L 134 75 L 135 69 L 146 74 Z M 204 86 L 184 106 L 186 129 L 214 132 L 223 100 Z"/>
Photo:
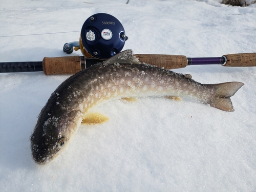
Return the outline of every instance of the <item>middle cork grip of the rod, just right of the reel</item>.
<path id="1" fill-rule="evenodd" d="M 165 69 L 178 69 L 187 66 L 187 57 L 183 55 L 134 54 L 141 63 L 147 63 Z"/>

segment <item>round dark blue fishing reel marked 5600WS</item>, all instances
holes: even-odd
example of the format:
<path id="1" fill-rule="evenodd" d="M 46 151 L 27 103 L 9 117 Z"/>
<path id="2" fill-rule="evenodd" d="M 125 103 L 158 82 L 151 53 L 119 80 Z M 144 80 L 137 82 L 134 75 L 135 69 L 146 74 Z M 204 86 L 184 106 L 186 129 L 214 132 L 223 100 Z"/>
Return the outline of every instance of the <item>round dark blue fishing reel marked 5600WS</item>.
<path id="1" fill-rule="evenodd" d="M 108 59 L 121 52 L 127 39 L 124 28 L 116 17 L 97 13 L 84 22 L 79 41 L 66 43 L 63 51 L 70 54 L 74 49 L 80 49 L 86 58 Z"/>

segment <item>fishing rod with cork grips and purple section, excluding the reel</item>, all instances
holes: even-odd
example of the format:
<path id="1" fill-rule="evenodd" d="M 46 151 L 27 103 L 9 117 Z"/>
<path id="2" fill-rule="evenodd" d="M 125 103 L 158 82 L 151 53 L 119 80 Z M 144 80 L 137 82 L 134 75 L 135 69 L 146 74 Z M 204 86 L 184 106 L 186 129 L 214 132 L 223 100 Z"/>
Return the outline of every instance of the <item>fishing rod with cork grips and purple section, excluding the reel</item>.
<path id="1" fill-rule="evenodd" d="M 141 63 L 165 69 L 193 65 L 222 65 L 225 67 L 255 67 L 256 53 L 228 54 L 222 57 L 189 58 L 183 55 L 134 54 Z M 84 56 L 45 57 L 42 61 L 0 62 L 0 73 L 44 71 L 46 75 L 75 74 L 103 60 Z"/>

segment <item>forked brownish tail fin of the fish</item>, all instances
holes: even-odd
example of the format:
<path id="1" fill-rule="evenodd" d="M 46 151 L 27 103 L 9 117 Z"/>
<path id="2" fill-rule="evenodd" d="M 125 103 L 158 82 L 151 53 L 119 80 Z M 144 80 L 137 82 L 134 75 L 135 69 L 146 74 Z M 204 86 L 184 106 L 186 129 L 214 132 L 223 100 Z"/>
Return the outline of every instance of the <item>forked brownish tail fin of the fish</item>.
<path id="1" fill-rule="evenodd" d="M 242 82 L 224 82 L 212 84 L 216 90 L 215 95 L 207 102 L 210 106 L 223 111 L 234 111 L 230 97 L 232 97 L 242 86 Z"/>

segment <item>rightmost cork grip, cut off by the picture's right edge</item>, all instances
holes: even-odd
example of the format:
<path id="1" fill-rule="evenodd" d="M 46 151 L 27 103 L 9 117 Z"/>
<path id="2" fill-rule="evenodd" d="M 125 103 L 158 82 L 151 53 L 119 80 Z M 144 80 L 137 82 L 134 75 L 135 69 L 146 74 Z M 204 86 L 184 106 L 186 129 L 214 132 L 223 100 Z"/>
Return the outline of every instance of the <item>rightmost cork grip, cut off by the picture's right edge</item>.
<path id="1" fill-rule="evenodd" d="M 223 55 L 227 58 L 226 67 L 253 67 L 256 66 L 256 53 L 237 53 Z"/>

